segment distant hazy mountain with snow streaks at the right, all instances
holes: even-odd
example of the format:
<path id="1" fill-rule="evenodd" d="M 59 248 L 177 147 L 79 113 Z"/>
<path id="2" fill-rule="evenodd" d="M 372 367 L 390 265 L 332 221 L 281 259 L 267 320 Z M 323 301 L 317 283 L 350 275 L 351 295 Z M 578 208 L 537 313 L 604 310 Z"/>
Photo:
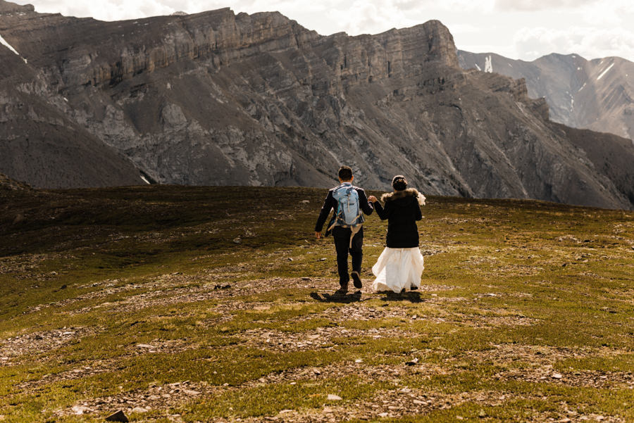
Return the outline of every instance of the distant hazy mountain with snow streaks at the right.
<path id="1" fill-rule="evenodd" d="M 462 68 L 524 78 L 528 96 L 545 97 L 552 120 L 634 139 L 634 63 L 619 57 L 591 61 L 552 53 L 532 62 L 494 53 L 458 51 Z"/>

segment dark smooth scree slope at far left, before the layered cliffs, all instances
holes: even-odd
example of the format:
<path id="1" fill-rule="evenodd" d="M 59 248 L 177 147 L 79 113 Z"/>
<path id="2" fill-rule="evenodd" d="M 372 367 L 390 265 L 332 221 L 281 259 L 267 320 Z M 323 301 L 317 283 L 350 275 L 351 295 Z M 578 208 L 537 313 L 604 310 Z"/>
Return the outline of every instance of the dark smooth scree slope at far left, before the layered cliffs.
<path id="1" fill-rule="evenodd" d="M 34 187 L 143 184 L 128 158 L 68 118 L 64 103 L 0 46 L 0 171 Z"/>

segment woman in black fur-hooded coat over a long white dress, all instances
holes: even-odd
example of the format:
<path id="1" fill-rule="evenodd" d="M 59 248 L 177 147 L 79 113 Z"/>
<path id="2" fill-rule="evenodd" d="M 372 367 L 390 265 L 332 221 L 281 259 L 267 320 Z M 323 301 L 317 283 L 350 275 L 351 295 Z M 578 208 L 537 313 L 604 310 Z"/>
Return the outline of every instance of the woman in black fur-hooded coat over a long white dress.
<path id="1" fill-rule="evenodd" d="M 376 277 L 372 288 L 375 291 L 401 292 L 421 286 L 425 266 L 418 249 L 416 221 L 423 218 L 421 206 L 425 205 L 425 196 L 416 189 L 408 189 L 402 175 L 392 179 L 392 187 L 393 192 L 381 196 L 385 206 L 381 206 L 375 196 L 368 198 L 374 203 L 381 220 L 387 219 L 387 247 L 372 267 Z"/>

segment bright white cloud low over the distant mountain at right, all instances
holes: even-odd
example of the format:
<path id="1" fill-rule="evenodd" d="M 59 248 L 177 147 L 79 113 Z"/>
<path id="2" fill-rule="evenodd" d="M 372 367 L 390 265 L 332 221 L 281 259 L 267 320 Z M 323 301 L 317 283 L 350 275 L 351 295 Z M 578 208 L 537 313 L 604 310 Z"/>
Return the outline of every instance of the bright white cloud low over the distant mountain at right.
<path id="1" fill-rule="evenodd" d="M 634 57 L 634 32 L 619 27 L 569 27 L 566 30 L 524 27 L 516 32 L 514 44 L 518 56 L 529 60 L 548 53 L 577 53 L 587 59 Z"/>

